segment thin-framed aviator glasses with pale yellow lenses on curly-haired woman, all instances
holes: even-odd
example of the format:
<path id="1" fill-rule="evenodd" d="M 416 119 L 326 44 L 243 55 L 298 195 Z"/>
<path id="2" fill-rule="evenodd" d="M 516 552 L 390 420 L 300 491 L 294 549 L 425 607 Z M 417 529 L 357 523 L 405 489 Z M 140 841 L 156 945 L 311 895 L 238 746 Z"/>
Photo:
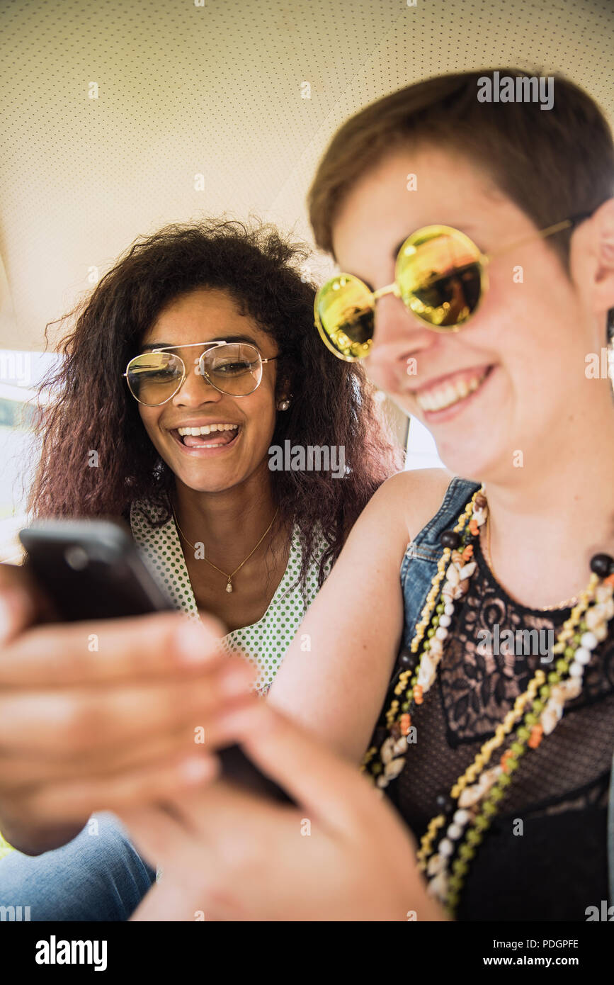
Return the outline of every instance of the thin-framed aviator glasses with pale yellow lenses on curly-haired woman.
<path id="1" fill-rule="evenodd" d="M 260 385 L 262 367 L 276 356 L 263 359 L 256 346 L 248 342 L 194 342 L 187 346 L 159 346 L 135 356 L 124 376 L 131 394 L 146 407 L 160 407 L 181 389 L 187 376 L 185 362 L 177 349 L 200 349 L 194 360 L 196 372 L 219 393 L 247 397 Z"/>

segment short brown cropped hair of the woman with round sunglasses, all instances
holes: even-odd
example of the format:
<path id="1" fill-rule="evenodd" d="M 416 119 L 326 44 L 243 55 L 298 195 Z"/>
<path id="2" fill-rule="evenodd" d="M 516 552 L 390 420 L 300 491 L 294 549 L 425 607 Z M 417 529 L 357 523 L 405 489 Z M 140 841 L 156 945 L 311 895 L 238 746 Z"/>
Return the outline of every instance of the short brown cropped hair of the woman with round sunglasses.
<path id="1" fill-rule="evenodd" d="M 614 194 L 608 123 L 578 86 L 555 75 L 554 104 L 479 102 L 478 80 L 493 70 L 436 76 L 365 106 L 338 130 L 309 191 L 321 249 L 333 253 L 333 225 L 352 184 L 399 144 L 428 141 L 484 166 L 535 226 L 592 212 Z M 514 68 L 501 77 L 530 78 Z M 569 231 L 548 240 L 566 269 Z"/>

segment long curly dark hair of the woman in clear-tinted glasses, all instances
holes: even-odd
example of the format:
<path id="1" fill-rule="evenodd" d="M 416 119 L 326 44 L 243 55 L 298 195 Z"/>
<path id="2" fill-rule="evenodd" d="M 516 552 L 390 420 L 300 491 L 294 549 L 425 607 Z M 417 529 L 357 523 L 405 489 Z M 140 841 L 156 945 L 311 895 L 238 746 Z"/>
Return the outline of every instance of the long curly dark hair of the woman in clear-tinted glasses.
<path id="1" fill-rule="evenodd" d="M 271 473 L 277 523 L 298 526 L 303 592 L 318 525 L 328 542 L 322 585 L 325 565 L 338 558 L 352 524 L 399 471 L 401 457 L 362 367 L 335 359 L 314 329 L 316 288 L 300 269 L 309 255 L 307 246 L 269 225 L 225 217 L 139 237 L 92 294 L 58 319 L 76 322 L 60 343 L 60 367 L 42 382 L 53 396 L 37 426 L 31 512 L 127 517 L 134 500 L 148 499 L 160 511 L 157 523 L 168 520 L 173 473 L 147 437 L 122 373 L 166 304 L 198 288 L 222 290 L 276 340 L 277 380 L 289 382 L 293 400 L 277 415 L 274 443 L 344 447 L 343 479 L 319 471 Z M 86 467 L 90 449 L 98 468 Z"/>

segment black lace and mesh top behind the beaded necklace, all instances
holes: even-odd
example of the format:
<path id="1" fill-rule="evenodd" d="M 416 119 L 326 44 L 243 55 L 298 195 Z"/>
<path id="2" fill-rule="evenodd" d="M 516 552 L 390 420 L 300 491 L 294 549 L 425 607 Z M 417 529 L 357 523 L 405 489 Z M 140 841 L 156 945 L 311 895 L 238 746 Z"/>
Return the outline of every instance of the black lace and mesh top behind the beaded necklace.
<path id="1" fill-rule="evenodd" d="M 437 680 L 412 713 L 410 745 L 388 795 L 416 837 L 440 813 L 482 744 L 526 689 L 535 670 L 554 669 L 539 653 L 506 654 L 505 629 L 542 630 L 546 643 L 570 610 L 540 613 L 514 602 L 475 547 L 478 568 L 457 607 Z M 483 647 L 479 630 L 499 624 L 500 645 Z M 614 748 L 614 633 L 593 651 L 583 692 L 536 750 L 522 757 L 487 836 L 469 864 L 460 920 L 585 920 L 608 898 L 607 793 Z M 518 638 L 518 637 L 517 637 Z M 482 655 L 498 649 L 499 655 Z M 516 647 L 517 654 L 519 647 Z M 534 650 L 534 647 L 530 647 Z M 547 646 L 542 646 L 542 652 Z M 397 668 L 399 669 L 399 668 Z M 505 747 L 503 747 L 505 748 Z M 499 761 L 499 755 L 491 765 Z M 519 822 L 520 821 L 520 822 Z M 517 832 L 517 833 L 515 833 Z"/>

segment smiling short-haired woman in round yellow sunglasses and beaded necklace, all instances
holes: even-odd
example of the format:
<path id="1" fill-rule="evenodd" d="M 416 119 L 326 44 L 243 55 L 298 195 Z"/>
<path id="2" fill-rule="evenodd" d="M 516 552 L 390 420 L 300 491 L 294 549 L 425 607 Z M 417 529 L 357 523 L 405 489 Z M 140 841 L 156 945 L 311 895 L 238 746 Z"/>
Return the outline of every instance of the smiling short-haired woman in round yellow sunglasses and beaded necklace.
<path id="1" fill-rule="evenodd" d="M 376 493 L 310 662 L 294 644 L 267 706 L 222 719 L 298 809 L 214 784 L 177 818 L 127 813 L 168 880 L 140 919 L 181 918 L 188 858 L 208 919 L 583 921 L 614 891 L 614 407 L 586 371 L 614 313 L 614 147 L 566 79 L 545 112 L 479 101 L 483 75 L 361 110 L 310 195 L 343 272 L 316 302 L 331 359 L 367 357 L 450 471 Z M 519 630 L 549 652 L 495 645 Z"/>

